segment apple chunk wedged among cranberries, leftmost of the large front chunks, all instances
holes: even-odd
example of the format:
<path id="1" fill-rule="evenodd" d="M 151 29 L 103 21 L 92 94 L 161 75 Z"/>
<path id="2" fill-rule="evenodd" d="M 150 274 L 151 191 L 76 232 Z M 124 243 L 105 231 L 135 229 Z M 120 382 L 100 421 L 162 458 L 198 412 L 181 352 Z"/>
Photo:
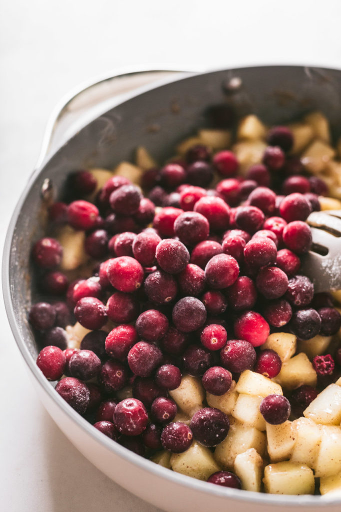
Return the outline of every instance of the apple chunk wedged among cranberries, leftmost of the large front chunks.
<path id="1" fill-rule="evenodd" d="M 169 394 L 181 411 L 191 418 L 196 411 L 202 409 L 205 395 L 200 379 L 183 375 L 180 386 Z"/>

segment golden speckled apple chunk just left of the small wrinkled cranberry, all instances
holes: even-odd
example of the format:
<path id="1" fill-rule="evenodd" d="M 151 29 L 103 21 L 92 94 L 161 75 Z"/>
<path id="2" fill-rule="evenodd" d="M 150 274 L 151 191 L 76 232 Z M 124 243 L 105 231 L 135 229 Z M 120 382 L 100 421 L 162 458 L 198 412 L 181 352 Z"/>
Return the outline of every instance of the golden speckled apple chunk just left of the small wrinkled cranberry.
<path id="1" fill-rule="evenodd" d="M 300 352 L 283 363 L 280 373 L 274 380 L 286 389 L 295 389 L 303 384 L 314 388 L 317 376 L 308 356 Z"/>

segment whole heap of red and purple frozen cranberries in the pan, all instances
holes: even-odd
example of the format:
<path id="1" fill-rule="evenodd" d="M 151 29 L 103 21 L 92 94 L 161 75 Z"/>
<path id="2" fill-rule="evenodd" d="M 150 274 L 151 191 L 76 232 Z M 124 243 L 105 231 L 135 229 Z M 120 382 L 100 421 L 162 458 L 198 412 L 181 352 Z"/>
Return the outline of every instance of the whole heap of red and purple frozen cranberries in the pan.
<path id="1" fill-rule="evenodd" d="M 279 355 L 258 348 L 270 331 L 305 340 L 340 328 L 331 295 L 314 294 L 300 274 L 300 258 L 311 247 L 305 220 L 320 209 L 327 187 L 288 156 L 292 142 L 286 127 L 272 128 L 263 163 L 244 178 L 233 152 L 212 157 L 195 145 L 184 160 L 145 172 L 148 197 L 113 176 L 88 202 L 97 184 L 81 170 L 70 177 L 73 200 L 50 207 L 50 227 L 86 232 L 94 271 L 69 284 L 57 269 L 58 241 L 35 243 L 39 286 L 52 297 L 29 314 L 44 347 L 37 365 L 49 380 L 60 379 L 56 391 L 71 407 L 130 450 L 148 457 L 161 449 L 181 453 L 194 439 L 211 447 L 228 435 L 228 416 L 214 408 L 195 413 L 190 425 L 173 422 L 177 406 L 168 392 L 179 387 L 181 374 L 222 395 L 243 370 L 278 375 Z M 90 330 L 80 349 L 67 348 L 64 329 L 75 319 Z M 108 321 L 109 332 L 102 330 Z M 341 349 L 313 364 L 322 388 L 341 368 Z M 290 404 L 299 416 L 317 391 L 302 386 L 287 397 L 270 395 L 261 413 L 282 423 Z M 210 481 L 240 486 L 229 472 Z"/>

